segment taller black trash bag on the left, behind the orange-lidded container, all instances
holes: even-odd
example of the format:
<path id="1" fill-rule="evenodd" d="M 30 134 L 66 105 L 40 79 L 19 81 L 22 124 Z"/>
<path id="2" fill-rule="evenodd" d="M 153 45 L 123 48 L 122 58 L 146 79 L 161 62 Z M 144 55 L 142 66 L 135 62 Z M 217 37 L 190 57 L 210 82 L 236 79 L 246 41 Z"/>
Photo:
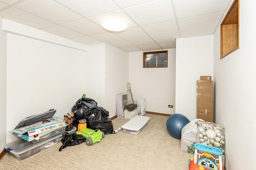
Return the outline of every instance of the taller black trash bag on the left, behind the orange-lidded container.
<path id="1" fill-rule="evenodd" d="M 86 119 L 85 114 L 92 107 L 97 107 L 97 102 L 90 98 L 81 98 L 76 102 L 76 104 L 71 109 L 71 111 L 74 113 L 74 118 L 73 118 L 74 127 L 78 126 L 79 120 Z"/>

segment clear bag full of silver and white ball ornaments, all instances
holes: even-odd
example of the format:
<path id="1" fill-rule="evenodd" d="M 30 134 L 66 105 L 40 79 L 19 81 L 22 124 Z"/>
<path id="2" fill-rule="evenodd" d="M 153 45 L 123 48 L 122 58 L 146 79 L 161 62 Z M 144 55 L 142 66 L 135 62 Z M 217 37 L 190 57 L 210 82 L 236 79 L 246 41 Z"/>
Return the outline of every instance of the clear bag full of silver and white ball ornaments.
<path id="1" fill-rule="evenodd" d="M 225 129 L 222 125 L 198 120 L 197 142 L 225 151 Z"/>

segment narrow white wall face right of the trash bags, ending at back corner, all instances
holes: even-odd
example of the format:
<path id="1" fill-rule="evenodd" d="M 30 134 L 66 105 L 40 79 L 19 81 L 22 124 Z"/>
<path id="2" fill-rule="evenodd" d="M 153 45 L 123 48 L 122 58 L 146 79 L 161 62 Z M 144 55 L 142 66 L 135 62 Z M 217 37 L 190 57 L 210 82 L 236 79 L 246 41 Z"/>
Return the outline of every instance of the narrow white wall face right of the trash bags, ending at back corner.
<path id="1" fill-rule="evenodd" d="M 127 92 L 129 53 L 106 44 L 105 109 L 109 117 L 116 115 L 116 94 Z"/>

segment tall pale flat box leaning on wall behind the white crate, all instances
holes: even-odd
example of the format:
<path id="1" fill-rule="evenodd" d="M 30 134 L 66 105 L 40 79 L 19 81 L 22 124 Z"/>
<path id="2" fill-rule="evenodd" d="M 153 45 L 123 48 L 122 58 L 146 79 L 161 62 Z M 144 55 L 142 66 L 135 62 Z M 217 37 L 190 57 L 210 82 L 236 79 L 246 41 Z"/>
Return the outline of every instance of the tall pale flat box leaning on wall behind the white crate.
<path id="1" fill-rule="evenodd" d="M 132 104 L 132 96 L 130 93 L 122 93 L 116 95 L 116 117 L 124 119 L 124 108 L 128 104 Z"/>

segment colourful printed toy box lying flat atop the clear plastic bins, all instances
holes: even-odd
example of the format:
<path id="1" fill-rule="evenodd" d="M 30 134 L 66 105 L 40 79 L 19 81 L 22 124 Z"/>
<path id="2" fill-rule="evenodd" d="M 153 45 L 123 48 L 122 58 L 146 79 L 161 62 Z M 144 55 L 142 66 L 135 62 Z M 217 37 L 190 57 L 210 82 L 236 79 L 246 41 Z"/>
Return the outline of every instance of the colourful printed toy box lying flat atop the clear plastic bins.
<path id="1" fill-rule="evenodd" d="M 65 127 L 66 122 L 63 118 L 60 117 L 51 117 L 49 119 L 45 119 L 43 121 L 26 125 L 24 127 L 20 127 L 18 129 L 14 129 L 10 132 L 17 133 L 17 134 L 24 134 L 28 133 L 28 136 L 38 135 L 40 133 L 44 133 L 47 131 L 51 131 L 52 129 L 58 129 L 60 127 Z"/>

